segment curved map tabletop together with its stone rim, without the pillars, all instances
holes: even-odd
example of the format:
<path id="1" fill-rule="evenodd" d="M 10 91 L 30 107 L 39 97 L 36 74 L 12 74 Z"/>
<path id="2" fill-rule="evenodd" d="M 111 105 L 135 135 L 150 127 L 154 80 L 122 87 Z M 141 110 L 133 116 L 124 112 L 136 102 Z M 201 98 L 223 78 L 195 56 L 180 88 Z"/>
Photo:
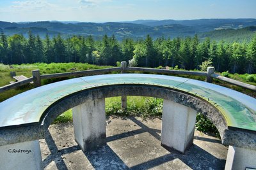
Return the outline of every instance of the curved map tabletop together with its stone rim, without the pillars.
<path id="1" fill-rule="evenodd" d="M 86 76 L 24 92 L 0 103 L 0 136 L 12 133 L 19 136 L 16 141 L 40 138 L 63 111 L 86 100 L 123 95 L 160 97 L 193 108 L 210 118 L 224 144 L 256 150 L 256 99 L 204 81 L 155 74 Z M 0 145 L 8 138 L 1 138 Z"/>

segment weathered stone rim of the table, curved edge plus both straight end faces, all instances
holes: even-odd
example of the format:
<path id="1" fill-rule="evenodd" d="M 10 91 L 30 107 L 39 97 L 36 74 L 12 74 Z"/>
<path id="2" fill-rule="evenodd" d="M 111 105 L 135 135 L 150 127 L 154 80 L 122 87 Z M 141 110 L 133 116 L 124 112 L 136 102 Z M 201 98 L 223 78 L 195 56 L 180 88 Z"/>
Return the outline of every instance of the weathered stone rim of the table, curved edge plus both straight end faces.
<path id="1" fill-rule="evenodd" d="M 206 100 L 187 94 L 184 91 L 161 87 L 157 85 L 104 85 L 101 87 L 92 87 L 69 94 L 68 96 L 58 99 L 55 103 L 47 107 L 44 114 L 40 118 L 40 125 L 29 125 L 24 127 L 6 128 L 0 132 L 0 146 L 24 141 L 33 141 L 42 139 L 45 130 L 51 125 L 58 115 L 74 108 L 79 104 L 93 99 L 102 99 L 114 96 L 151 96 L 168 99 L 176 103 L 188 106 L 193 110 L 200 111 L 216 125 L 220 132 L 221 141 L 224 145 L 232 145 L 241 148 L 251 148 L 256 150 L 256 133 L 252 131 L 237 131 L 236 129 L 228 129 L 225 118 L 220 111 Z"/>

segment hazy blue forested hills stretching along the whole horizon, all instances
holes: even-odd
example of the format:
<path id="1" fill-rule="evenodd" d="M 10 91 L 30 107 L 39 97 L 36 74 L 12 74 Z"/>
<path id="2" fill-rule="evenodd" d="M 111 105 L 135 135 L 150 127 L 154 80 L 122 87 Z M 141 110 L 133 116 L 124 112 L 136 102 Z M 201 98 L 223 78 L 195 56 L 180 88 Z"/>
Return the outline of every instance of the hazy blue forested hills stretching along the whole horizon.
<path id="1" fill-rule="evenodd" d="M 253 27 L 254 26 L 254 27 Z M 220 41 L 234 41 L 238 39 L 251 39 L 255 33 L 256 19 L 200 19 L 200 20 L 136 20 L 132 22 L 0 22 L 0 31 L 4 34 L 23 34 L 28 36 L 28 31 L 44 37 L 72 36 L 79 34 L 81 36 L 92 35 L 100 38 L 107 34 L 115 34 L 117 39 L 123 38 L 145 38 L 150 34 L 153 38 L 164 36 L 166 38 L 194 36 L 204 39 L 211 37 Z"/>

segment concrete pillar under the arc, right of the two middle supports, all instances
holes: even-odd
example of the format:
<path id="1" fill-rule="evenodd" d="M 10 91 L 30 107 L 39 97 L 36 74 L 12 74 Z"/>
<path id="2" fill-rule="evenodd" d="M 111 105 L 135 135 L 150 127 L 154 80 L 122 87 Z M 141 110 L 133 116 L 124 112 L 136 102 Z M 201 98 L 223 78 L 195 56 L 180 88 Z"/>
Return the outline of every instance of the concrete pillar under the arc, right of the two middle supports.
<path id="1" fill-rule="evenodd" d="M 195 122 L 195 110 L 164 100 L 161 145 L 184 153 L 189 146 L 193 145 Z"/>

